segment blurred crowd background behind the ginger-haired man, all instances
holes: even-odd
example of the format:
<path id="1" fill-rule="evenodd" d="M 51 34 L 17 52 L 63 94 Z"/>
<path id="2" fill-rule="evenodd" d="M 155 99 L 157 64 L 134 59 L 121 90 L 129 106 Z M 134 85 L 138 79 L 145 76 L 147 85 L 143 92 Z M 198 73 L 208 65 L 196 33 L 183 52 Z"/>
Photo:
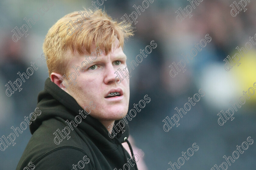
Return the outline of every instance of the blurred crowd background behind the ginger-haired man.
<path id="1" fill-rule="evenodd" d="M 11 127 L 19 127 L 24 116 L 29 116 L 37 104 L 37 94 L 43 90 L 44 81 L 48 77 L 47 66 L 44 62 L 26 82 L 22 83 L 20 92 L 16 91 L 11 97 L 5 94 L 5 84 L 15 81 L 17 73 L 26 72 L 31 65 L 41 57 L 42 44 L 48 29 L 61 17 L 91 6 L 91 1 L 58 1 L 53 0 L 40 19 L 31 25 L 28 36 L 22 36 L 18 42 L 13 42 L 11 32 L 16 26 L 20 28 L 27 24 L 24 17 L 32 18 L 48 2 L 42 1 L 0 1 L 0 136 L 7 137 L 12 133 Z M 182 157 L 182 151 L 187 151 L 194 142 L 199 150 L 185 161 L 180 169 L 211 169 L 225 161 L 224 155 L 232 156 L 236 145 L 241 145 L 248 136 L 254 140 L 234 163 L 233 170 L 253 169 L 256 166 L 256 94 L 251 96 L 223 125 L 218 124 L 217 114 L 226 111 L 238 102 L 243 91 L 253 87 L 256 82 L 256 50 L 255 46 L 241 57 L 240 66 L 233 66 L 226 71 L 223 61 L 228 55 L 238 53 L 236 46 L 245 47 L 249 36 L 256 33 L 256 2 L 247 2 L 247 11 L 242 10 L 236 17 L 230 15 L 233 2 L 204 0 L 193 8 L 191 18 L 185 18 L 181 23 L 176 21 L 176 10 L 191 5 L 186 0 L 159 0 L 151 4 L 138 15 L 135 36 L 126 41 L 124 53 L 129 60 L 135 60 L 140 49 L 150 45 L 152 40 L 157 43 L 147 58 L 139 63 L 131 72 L 130 78 L 130 107 L 137 104 L 145 95 L 151 98 L 136 117 L 129 121 L 130 134 L 137 148 L 144 151 L 144 161 L 148 170 L 168 169 L 169 161 L 177 162 Z M 238 3 L 238 0 L 237 0 Z M 126 13 L 136 11 L 133 5 L 142 4 L 142 0 L 106 0 L 100 6 L 112 18 L 120 18 Z M 97 5 L 98 6 L 98 5 Z M 170 77 L 169 65 L 178 63 L 183 56 L 190 54 L 194 43 L 199 43 L 209 34 L 212 41 L 197 53 L 193 60 L 186 63 L 186 71 L 179 72 L 176 77 Z M 166 116 L 176 114 L 175 107 L 184 108 L 188 97 L 192 97 L 202 88 L 205 96 L 192 106 L 180 125 L 174 126 L 169 132 L 163 130 L 162 122 Z M 255 88 L 254 88 L 255 89 Z M 248 94 L 248 93 L 247 93 Z M 16 137 L 16 144 L 10 145 L 5 151 L 0 151 L 0 169 L 15 169 L 18 161 L 31 137 L 29 128 Z"/>

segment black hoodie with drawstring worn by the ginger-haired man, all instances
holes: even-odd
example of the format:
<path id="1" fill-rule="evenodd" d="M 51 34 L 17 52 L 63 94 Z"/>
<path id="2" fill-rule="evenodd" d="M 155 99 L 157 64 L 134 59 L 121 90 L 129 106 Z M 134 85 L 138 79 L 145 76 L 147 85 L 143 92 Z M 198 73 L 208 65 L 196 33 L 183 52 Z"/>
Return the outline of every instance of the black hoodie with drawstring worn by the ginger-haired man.
<path id="1" fill-rule="evenodd" d="M 123 170 L 128 169 L 125 164 L 130 166 L 130 170 L 137 169 L 136 163 L 121 144 L 129 136 L 127 124 L 123 134 L 120 131 L 114 138 L 110 138 L 107 129 L 88 114 L 77 127 L 72 125 L 73 130 L 69 128 L 68 140 L 62 132 L 65 137 L 63 139 L 56 131 L 70 127 L 66 121 L 75 122 L 75 116 L 83 108 L 50 78 L 45 81 L 44 91 L 38 94 L 37 100 L 41 114 L 30 124 L 32 137 L 16 170 L 23 170 L 25 167 L 26 170 Z M 54 133 L 59 135 L 59 144 L 54 142 Z"/>

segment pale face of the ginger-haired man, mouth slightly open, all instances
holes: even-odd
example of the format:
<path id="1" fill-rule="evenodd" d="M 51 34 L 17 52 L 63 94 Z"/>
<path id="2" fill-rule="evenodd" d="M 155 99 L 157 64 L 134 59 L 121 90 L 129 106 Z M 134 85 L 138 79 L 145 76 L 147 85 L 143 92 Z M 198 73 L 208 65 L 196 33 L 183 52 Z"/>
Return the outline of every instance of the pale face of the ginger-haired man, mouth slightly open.
<path id="1" fill-rule="evenodd" d="M 111 52 L 108 55 L 101 49 L 102 53 L 97 56 L 96 60 L 92 60 L 89 54 L 79 55 L 76 53 L 69 62 L 70 73 L 75 73 L 72 68 L 73 65 L 76 68 L 79 66 L 84 72 L 81 73 L 77 69 L 80 74 L 79 76 L 76 75 L 75 81 L 77 83 L 75 85 L 72 83 L 65 91 L 82 108 L 89 106 L 90 102 L 93 101 L 96 108 L 91 110 L 90 115 L 99 121 L 118 120 L 122 118 L 121 114 L 125 116 L 128 111 L 130 98 L 129 79 L 128 77 L 123 78 L 123 81 L 119 84 L 115 81 L 117 69 L 123 70 L 126 67 L 126 55 L 121 47 L 117 48 L 118 40 L 114 44 L 115 46 L 112 45 Z M 88 56 L 92 63 L 87 60 Z M 87 62 L 86 69 L 81 67 L 83 61 Z M 84 67 L 86 67 L 85 64 Z M 119 75 L 121 76 L 120 73 Z M 119 92 L 119 95 L 109 96 L 109 94 L 115 94 L 115 92 Z"/>

